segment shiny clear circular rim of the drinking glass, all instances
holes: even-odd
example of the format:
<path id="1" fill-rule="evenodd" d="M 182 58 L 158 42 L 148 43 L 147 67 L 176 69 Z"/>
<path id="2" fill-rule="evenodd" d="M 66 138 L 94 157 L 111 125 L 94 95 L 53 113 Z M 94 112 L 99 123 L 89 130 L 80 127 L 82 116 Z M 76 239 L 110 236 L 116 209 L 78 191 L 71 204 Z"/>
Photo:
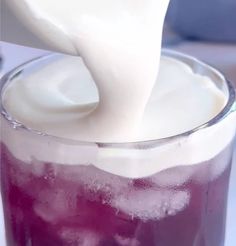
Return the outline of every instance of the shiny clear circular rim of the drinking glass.
<path id="1" fill-rule="evenodd" d="M 207 63 L 205 63 L 205 62 L 203 62 L 203 61 L 201 61 L 201 60 L 199 60 L 193 56 L 184 54 L 182 52 L 178 52 L 178 51 L 174 51 L 174 50 L 170 50 L 170 49 L 162 49 L 162 55 L 169 56 L 172 58 L 182 58 L 182 59 L 189 61 L 193 64 L 199 65 L 201 68 L 203 68 L 205 70 L 210 70 L 215 75 L 218 75 L 218 77 L 221 78 L 222 82 L 227 87 L 228 99 L 227 99 L 227 103 L 224 106 L 224 108 L 214 118 L 210 119 L 208 122 L 206 122 L 204 124 L 201 124 L 200 126 L 193 128 L 192 130 L 188 130 L 186 132 L 176 134 L 173 136 L 164 137 L 164 138 L 157 138 L 157 139 L 154 138 L 154 139 L 150 139 L 150 140 L 127 141 L 127 142 L 100 142 L 100 141 L 73 140 L 70 138 L 50 135 L 50 134 L 38 131 L 36 129 L 32 129 L 30 127 L 27 127 L 26 125 L 22 124 L 21 122 L 17 121 L 16 119 L 14 119 L 14 117 L 12 117 L 10 115 L 10 113 L 7 112 L 7 110 L 5 110 L 3 103 L 2 103 L 2 93 L 4 91 L 5 86 L 8 84 L 8 82 L 11 81 L 12 79 L 14 79 L 14 77 L 16 77 L 25 68 L 30 67 L 34 64 L 37 64 L 40 61 L 49 59 L 50 57 L 63 56 L 63 55 L 58 55 L 55 53 L 39 56 L 39 57 L 33 58 L 27 62 L 24 62 L 21 65 L 13 68 L 9 72 L 7 72 L 2 78 L 0 78 L 0 110 L 1 110 L 0 113 L 1 113 L 2 117 L 5 118 L 7 123 L 12 125 L 12 128 L 17 128 L 18 130 L 19 129 L 24 130 L 24 131 L 30 132 L 30 133 L 38 135 L 38 136 L 40 135 L 43 137 L 48 137 L 48 138 L 51 138 L 55 141 L 67 142 L 67 143 L 70 142 L 70 143 L 76 144 L 76 145 L 96 144 L 99 147 L 133 148 L 134 146 L 139 146 L 139 147 L 140 146 L 146 146 L 146 145 L 156 146 L 156 145 L 163 144 L 165 142 L 170 142 L 172 140 L 176 140 L 176 139 L 179 139 L 182 137 L 188 137 L 188 136 L 192 135 L 193 133 L 196 133 L 198 131 L 201 131 L 203 129 L 206 129 L 206 128 L 209 128 L 211 126 L 216 125 L 217 123 L 221 122 L 224 118 L 226 118 L 229 114 L 236 111 L 236 91 L 234 89 L 234 86 L 232 85 L 232 83 L 230 81 L 228 81 L 225 78 L 223 73 L 221 73 L 218 69 L 214 68 L 214 66 L 208 65 Z M 191 69 L 193 69 L 193 67 L 191 67 Z M 193 71 L 194 71 L 194 69 L 193 69 Z"/>

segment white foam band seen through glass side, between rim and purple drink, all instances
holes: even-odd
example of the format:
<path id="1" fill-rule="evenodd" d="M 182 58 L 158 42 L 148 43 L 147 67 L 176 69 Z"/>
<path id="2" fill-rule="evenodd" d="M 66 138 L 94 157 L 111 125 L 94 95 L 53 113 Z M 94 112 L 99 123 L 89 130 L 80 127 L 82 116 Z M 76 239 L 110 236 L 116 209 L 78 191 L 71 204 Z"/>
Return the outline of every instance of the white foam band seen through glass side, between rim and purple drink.
<path id="1" fill-rule="evenodd" d="M 138 146 L 132 149 L 101 148 L 96 144 L 80 145 L 70 141 L 57 141 L 54 138 L 13 129 L 5 120 L 2 120 L 4 131 L 1 140 L 17 159 L 29 164 L 37 160 L 55 164 L 94 165 L 123 177 L 143 178 L 170 167 L 194 165 L 214 158 L 233 140 L 235 121 L 236 115 L 231 114 L 218 124 L 189 137 L 145 149 Z M 229 152 L 226 157 L 230 158 Z M 228 161 L 221 162 L 223 163 L 225 165 L 220 166 L 219 170 L 214 168 L 210 179 L 225 170 Z"/>

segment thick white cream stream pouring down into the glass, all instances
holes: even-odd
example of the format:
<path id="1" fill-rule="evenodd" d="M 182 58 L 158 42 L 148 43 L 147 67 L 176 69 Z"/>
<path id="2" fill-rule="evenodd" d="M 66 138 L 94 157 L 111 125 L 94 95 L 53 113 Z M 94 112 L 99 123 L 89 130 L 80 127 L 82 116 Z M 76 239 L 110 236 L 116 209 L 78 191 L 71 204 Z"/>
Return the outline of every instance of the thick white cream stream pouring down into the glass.
<path id="1" fill-rule="evenodd" d="M 77 122 L 80 138 L 126 141 L 137 135 L 157 77 L 169 1 L 9 2 L 40 38 L 80 55 L 96 82 L 99 104 Z"/>

